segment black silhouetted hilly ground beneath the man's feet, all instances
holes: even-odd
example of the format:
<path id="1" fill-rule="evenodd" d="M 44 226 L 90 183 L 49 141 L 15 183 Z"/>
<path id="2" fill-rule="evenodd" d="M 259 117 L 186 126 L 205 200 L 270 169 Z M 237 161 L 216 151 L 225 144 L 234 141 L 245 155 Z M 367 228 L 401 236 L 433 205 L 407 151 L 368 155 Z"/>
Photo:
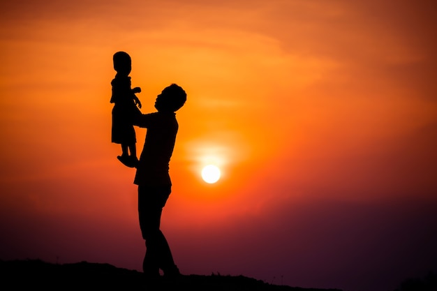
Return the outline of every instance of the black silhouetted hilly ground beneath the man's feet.
<path id="1" fill-rule="evenodd" d="M 245 276 L 184 275 L 177 281 L 145 285 L 142 273 L 111 264 L 52 264 L 42 260 L 0 261 L 3 290 L 191 290 L 191 291 L 341 291 L 272 285 Z M 9 286 L 5 288 L 5 286 Z"/>

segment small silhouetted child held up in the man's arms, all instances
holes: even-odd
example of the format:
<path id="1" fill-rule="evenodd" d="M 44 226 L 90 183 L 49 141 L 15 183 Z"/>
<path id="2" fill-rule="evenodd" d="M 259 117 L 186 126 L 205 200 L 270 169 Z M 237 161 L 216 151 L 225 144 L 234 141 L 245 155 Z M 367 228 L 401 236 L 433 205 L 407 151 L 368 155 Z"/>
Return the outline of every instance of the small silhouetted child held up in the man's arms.
<path id="1" fill-rule="evenodd" d="M 117 71 L 111 82 L 112 96 L 112 142 L 121 144 L 119 161 L 128 167 L 135 167 L 138 163 L 136 150 L 136 135 L 133 128 L 135 116 L 141 114 L 141 103 L 135 93 L 140 93 L 141 88 L 131 89 L 131 57 L 126 52 L 116 52 L 112 57 L 114 70 Z M 138 107 L 137 107 L 138 106 Z"/>

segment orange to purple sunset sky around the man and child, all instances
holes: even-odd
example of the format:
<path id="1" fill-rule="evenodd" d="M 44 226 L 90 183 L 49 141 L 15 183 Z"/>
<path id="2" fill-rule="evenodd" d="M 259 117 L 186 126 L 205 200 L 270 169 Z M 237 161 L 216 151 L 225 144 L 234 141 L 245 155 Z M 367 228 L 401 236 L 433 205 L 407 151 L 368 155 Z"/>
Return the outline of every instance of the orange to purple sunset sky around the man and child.
<path id="1" fill-rule="evenodd" d="M 1 1 L 0 259 L 141 269 L 111 143 L 123 50 L 143 113 L 188 94 L 161 223 L 183 274 L 387 291 L 437 272 L 436 31 L 428 0 Z"/>

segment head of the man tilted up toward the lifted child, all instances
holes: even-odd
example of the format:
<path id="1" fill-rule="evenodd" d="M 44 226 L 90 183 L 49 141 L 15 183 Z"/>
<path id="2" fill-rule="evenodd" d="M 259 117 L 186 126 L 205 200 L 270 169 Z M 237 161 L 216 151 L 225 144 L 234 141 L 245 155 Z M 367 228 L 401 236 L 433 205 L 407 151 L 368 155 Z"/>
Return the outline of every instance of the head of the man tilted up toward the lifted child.
<path id="1" fill-rule="evenodd" d="M 158 95 L 155 108 L 158 111 L 176 112 L 184 105 L 185 101 L 186 93 L 184 89 L 177 84 L 171 84 Z"/>

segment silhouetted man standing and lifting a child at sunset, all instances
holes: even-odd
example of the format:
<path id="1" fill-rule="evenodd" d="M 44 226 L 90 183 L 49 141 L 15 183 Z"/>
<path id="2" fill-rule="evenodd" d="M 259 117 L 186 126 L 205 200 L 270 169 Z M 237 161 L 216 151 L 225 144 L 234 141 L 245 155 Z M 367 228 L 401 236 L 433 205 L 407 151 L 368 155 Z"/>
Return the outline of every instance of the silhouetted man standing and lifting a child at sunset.
<path id="1" fill-rule="evenodd" d="M 140 114 L 135 126 L 147 128 L 144 148 L 137 165 L 134 184 L 138 185 L 138 215 L 146 254 L 142 264 L 147 279 L 179 276 L 170 246 L 160 230 L 163 207 L 171 193 L 169 163 L 179 125 L 176 111 L 186 102 L 186 92 L 177 84 L 165 87 L 158 95 L 158 112 Z"/>

